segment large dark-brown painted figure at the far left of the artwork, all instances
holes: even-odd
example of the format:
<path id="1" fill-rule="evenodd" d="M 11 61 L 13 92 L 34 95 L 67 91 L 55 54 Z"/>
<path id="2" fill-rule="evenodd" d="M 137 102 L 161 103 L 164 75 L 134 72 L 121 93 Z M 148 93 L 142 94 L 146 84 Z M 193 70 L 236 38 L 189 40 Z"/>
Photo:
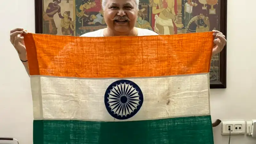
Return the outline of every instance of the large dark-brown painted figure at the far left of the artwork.
<path id="1" fill-rule="evenodd" d="M 57 27 L 53 20 L 53 16 L 58 13 L 59 17 L 64 17 L 60 13 L 60 2 L 61 0 L 53 0 L 52 3 L 48 4 L 46 11 L 44 12 L 44 34 L 57 35 Z"/>

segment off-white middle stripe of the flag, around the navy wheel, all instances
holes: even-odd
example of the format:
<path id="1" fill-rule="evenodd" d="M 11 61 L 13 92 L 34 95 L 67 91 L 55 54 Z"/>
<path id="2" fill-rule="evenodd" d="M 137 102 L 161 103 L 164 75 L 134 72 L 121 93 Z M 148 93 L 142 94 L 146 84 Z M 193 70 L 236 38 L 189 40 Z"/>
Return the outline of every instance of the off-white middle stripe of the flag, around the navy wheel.
<path id="1" fill-rule="evenodd" d="M 136 88 L 133 84 L 131 90 L 131 86 L 128 86 L 127 82 L 125 86 L 124 82 L 118 86 L 116 81 L 119 80 L 122 79 L 31 76 L 34 119 L 137 121 L 210 114 L 209 73 L 125 79 L 138 85 Z M 107 90 L 111 84 L 118 86 L 116 90 L 112 89 L 112 92 Z M 127 94 L 129 90 L 132 92 L 134 89 L 139 93 Z M 116 115 L 117 113 L 132 115 L 135 107 L 138 109 L 142 106 L 131 118 L 119 120 L 109 114 L 107 110 L 106 93 L 111 94 L 109 96 L 111 99 L 107 99 L 108 101 L 121 100 L 121 96 L 124 95 L 135 100 L 135 103 L 128 103 L 129 105 L 121 110 L 118 107 L 113 109 L 116 111 Z M 139 96 L 143 97 L 143 101 L 139 99 Z M 112 108 L 117 106 L 117 103 L 116 105 L 112 104 Z"/>

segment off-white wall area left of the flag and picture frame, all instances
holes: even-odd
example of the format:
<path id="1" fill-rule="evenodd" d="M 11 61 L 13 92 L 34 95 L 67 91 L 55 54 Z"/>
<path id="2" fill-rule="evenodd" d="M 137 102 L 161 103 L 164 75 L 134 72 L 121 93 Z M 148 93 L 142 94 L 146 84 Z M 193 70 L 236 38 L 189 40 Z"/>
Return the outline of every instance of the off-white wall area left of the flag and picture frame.
<path id="1" fill-rule="evenodd" d="M 35 32 L 34 0 L 0 0 L 0 137 L 33 144 L 30 80 L 10 42 L 10 30 Z"/>

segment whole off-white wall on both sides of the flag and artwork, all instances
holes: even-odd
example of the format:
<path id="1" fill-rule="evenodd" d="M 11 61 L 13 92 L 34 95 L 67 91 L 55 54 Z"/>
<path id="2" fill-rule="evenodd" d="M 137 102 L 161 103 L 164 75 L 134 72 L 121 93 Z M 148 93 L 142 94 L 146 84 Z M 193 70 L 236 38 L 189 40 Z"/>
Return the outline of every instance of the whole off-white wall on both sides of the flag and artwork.
<path id="1" fill-rule="evenodd" d="M 35 32 L 34 0 L 2 0 L 0 27 L 0 137 L 32 144 L 33 110 L 29 77 L 9 40 L 10 29 Z M 227 89 L 211 90 L 212 120 L 256 119 L 254 0 L 228 0 Z M 247 24 L 248 23 L 248 24 Z M 249 63 L 252 62 L 251 65 Z M 228 144 L 214 128 L 215 144 Z M 231 136 L 232 144 L 255 144 L 256 138 Z"/>

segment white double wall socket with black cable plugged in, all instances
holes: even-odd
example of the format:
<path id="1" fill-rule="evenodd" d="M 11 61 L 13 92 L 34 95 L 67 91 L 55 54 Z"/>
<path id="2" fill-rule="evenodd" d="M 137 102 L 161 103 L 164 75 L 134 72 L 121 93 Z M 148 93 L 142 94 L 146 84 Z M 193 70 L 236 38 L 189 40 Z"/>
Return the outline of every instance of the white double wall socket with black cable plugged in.
<path id="1" fill-rule="evenodd" d="M 222 135 L 244 135 L 245 121 L 223 121 L 221 129 Z"/>

